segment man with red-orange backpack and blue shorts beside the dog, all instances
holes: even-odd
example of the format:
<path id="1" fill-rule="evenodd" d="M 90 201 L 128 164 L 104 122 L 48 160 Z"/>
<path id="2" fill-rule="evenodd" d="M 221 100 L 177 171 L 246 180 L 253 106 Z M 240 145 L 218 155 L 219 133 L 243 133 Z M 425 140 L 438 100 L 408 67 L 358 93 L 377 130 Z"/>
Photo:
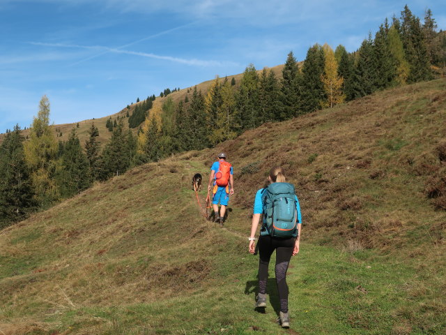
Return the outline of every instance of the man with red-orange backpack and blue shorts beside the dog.
<path id="1" fill-rule="evenodd" d="M 232 165 L 226 162 L 226 154 L 223 152 L 218 155 L 218 161 L 214 162 L 210 168 L 208 191 L 213 190 L 213 209 L 215 213 L 215 222 L 223 225 L 226 206 L 229 202 L 229 195 L 234 193 Z M 218 204 L 220 203 L 220 214 Z"/>

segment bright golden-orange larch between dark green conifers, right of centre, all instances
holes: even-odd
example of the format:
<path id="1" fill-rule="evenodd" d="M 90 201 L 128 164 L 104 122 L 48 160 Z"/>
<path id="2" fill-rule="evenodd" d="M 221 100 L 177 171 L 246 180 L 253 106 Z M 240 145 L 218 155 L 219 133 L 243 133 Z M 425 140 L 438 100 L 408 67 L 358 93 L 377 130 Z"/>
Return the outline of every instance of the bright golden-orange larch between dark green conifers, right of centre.
<path id="1" fill-rule="evenodd" d="M 324 71 L 321 77 L 323 82 L 323 88 L 325 90 L 325 96 L 327 97 L 321 101 L 321 107 L 334 107 L 339 103 L 343 103 L 345 100 L 344 92 L 342 91 L 342 84 L 344 83 L 344 78 L 339 77 L 337 71 L 337 61 L 334 58 L 334 52 L 330 45 L 325 43 L 323 45 L 324 52 Z"/>

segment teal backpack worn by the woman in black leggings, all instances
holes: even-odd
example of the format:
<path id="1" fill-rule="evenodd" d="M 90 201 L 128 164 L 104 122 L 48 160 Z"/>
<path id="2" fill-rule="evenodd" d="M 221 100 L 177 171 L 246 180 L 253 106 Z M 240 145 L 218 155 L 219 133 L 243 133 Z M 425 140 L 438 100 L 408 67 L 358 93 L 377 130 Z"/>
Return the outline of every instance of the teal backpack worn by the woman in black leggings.
<path id="1" fill-rule="evenodd" d="M 294 186 L 272 183 L 262 191 L 263 231 L 272 237 L 297 237 L 298 213 Z"/>

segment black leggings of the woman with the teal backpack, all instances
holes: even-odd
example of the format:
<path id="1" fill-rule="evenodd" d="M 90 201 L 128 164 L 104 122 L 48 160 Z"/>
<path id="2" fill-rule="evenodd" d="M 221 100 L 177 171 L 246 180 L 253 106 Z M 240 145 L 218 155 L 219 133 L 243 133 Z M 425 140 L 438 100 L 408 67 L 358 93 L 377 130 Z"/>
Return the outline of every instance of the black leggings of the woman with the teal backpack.
<path id="1" fill-rule="evenodd" d="M 276 250 L 276 282 L 279 291 L 280 311 L 288 312 L 288 285 L 286 285 L 286 270 L 293 255 L 295 238 L 276 239 L 270 235 L 259 237 L 259 293 L 266 293 L 268 281 L 268 265 L 272 252 Z"/>

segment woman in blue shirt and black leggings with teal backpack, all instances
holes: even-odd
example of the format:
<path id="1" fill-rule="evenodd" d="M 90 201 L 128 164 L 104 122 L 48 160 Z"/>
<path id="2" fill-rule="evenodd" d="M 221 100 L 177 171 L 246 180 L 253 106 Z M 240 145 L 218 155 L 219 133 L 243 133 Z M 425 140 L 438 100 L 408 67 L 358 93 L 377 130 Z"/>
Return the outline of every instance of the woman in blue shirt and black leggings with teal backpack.
<path id="1" fill-rule="evenodd" d="M 286 271 L 288 270 L 291 256 L 299 253 L 300 229 L 302 217 L 300 214 L 300 205 L 298 197 L 294 193 L 294 186 L 286 183 L 284 170 L 281 167 L 275 167 L 270 170 L 268 177 L 270 185 L 267 188 L 261 188 L 256 193 L 254 200 L 254 214 L 252 216 L 251 234 L 249 235 L 249 253 L 255 252 L 255 236 L 261 214 L 263 214 L 263 224 L 260 230 L 259 242 L 259 295 L 257 296 L 256 308 L 266 307 L 266 283 L 268 281 L 268 265 L 273 251 L 276 251 L 275 274 L 277 281 L 277 290 L 279 291 L 280 312 L 279 321 L 282 327 L 290 327 L 290 318 L 288 311 L 288 285 L 286 284 Z M 270 191 L 281 190 L 281 191 Z M 288 191 L 286 191 L 288 190 Z M 270 197 L 270 198 L 268 198 Z M 272 204 L 271 198 L 273 199 Z M 274 206 L 279 207 L 282 202 L 281 210 L 275 211 Z M 288 206 L 288 207 L 287 207 Z M 291 208 L 292 206 L 292 208 Z M 285 210 L 283 210 L 284 208 Z M 288 209 L 288 211 L 286 211 Z M 268 216 L 270 214 L 270 216 Z M 279 218 L 274 216 L 279 216 Z M 286 218 L 289 215 L 291 219 Z M 270 221 L 268 221 L 268 218 Z M 281 223 L 283 220 L 284 223 Z M 285 221 L 289 221 L 286 223 Z M 272 221 L 272 223 L 271 223 Z M 280 222 L 282 225 L 278 225 Z M 291 227 L 286 228 L 286 225 Z M 277 230 L 277 231 L 276 231 Z"/>

